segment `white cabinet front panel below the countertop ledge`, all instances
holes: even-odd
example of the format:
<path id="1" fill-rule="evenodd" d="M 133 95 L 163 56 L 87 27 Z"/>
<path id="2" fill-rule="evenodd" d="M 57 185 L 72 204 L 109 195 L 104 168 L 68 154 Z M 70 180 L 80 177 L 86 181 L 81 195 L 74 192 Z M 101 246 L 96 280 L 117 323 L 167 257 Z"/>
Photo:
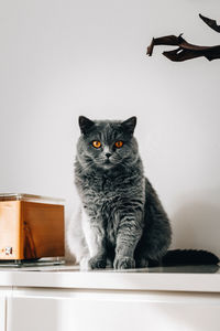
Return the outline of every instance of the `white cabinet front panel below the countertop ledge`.
<path id="1" fill-rule="evenodd" d="M 15 292 L 7 331 L 219 331 L 220 297 Z"/>

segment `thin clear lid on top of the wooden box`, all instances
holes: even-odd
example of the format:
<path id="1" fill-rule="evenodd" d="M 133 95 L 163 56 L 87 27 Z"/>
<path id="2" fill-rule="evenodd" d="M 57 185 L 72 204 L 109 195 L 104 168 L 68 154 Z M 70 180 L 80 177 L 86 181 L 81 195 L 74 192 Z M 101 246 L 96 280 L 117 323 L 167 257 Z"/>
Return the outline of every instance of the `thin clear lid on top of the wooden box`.
<path id="1" fill-rule="evenodd" d="M 64 204 L 64 199 L 50 197 L 26 193 L 0 193 L 0 201 L 30 201 L 51 204 Z"/>

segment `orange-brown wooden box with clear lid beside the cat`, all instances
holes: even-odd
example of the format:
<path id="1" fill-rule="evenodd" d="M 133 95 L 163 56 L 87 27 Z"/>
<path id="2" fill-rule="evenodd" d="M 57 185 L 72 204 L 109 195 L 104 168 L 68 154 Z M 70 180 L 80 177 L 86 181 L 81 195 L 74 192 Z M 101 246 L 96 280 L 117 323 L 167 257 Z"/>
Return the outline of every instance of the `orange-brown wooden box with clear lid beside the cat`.
<path id="1" fill-rule="evenodd" d="M 64 201 L 0 194 L 0 260 L 64 256 Z"/>

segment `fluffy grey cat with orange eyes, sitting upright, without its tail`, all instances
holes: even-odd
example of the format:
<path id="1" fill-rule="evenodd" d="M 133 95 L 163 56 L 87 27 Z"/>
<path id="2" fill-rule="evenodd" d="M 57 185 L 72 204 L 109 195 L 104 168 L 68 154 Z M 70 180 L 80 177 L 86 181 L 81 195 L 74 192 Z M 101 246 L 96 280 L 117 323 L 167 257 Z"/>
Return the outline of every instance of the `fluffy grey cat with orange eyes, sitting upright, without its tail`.
<path id="1" fill-rule="evenodd" d="M 82 269 L 147 267 L 160 263 L 170 244 L 168 217 L 144 177 L 135 125 L 136 117 L 79 117 L 75 183 L 81 206 L 67 241 Z"/>

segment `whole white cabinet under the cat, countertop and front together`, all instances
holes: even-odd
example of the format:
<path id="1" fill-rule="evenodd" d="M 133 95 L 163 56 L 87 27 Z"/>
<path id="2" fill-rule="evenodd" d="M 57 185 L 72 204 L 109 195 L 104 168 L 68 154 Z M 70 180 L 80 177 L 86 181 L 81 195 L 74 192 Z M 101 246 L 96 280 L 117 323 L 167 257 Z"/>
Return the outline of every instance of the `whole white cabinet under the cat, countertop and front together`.
<path id="1" fill-rule="evenodd" d="M 220 274 L 166 271 L 0 271 L 0 331 L 219 331 Z"/>

